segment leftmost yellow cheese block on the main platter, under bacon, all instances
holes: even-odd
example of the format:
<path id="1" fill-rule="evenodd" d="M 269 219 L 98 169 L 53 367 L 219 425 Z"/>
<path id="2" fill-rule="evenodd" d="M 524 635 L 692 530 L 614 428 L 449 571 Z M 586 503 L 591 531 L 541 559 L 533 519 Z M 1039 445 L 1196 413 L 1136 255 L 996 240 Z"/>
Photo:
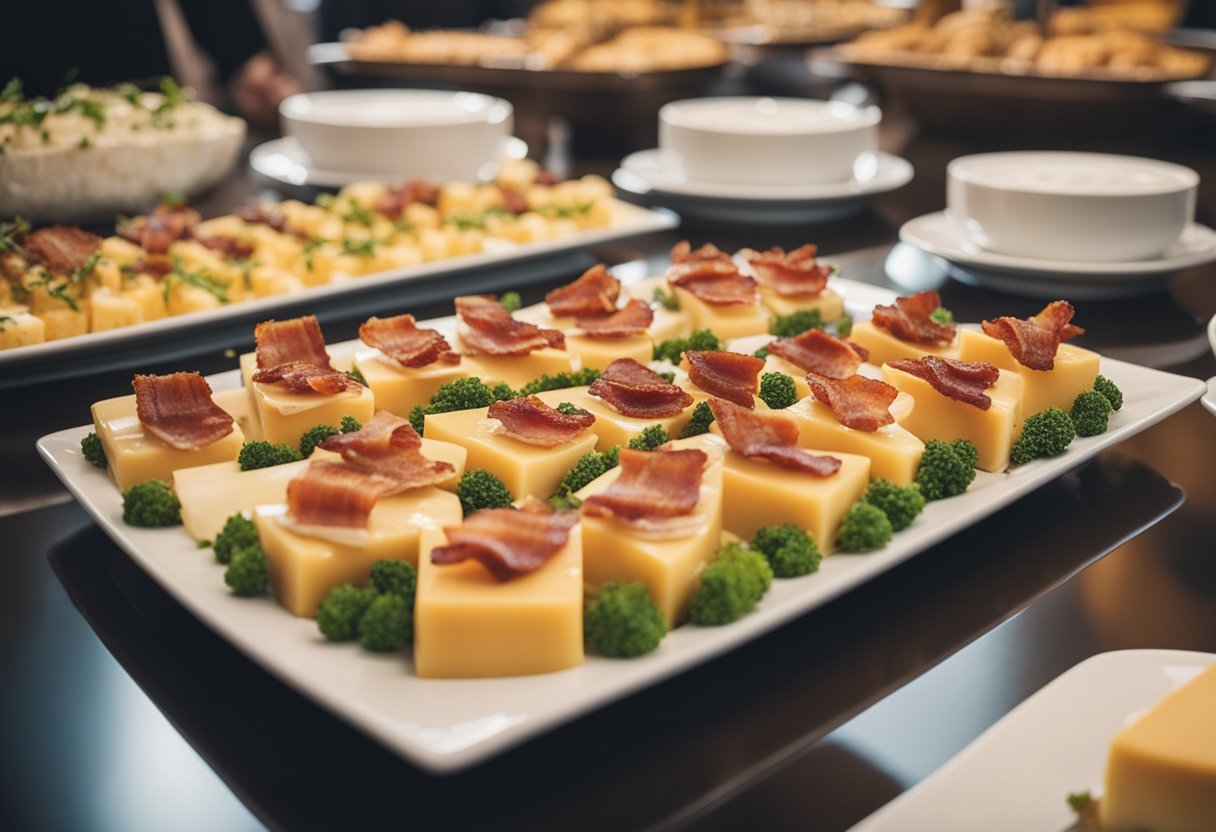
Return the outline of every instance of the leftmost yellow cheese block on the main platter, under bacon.
<path id="1" fill-rule="evenodd" d="M 143 425 L 135 412 L 135 395 L 120 395 L 92 405 L 92 423 L 106 451 L 109 472 L 125 491 L 147 479 L 173 482 L 173 472 L 196 465 L 235 460 L 241 452 L 244 437 L 241 428 L 198 450 L 170 448 L 156 437 L 143 432 Z"/>

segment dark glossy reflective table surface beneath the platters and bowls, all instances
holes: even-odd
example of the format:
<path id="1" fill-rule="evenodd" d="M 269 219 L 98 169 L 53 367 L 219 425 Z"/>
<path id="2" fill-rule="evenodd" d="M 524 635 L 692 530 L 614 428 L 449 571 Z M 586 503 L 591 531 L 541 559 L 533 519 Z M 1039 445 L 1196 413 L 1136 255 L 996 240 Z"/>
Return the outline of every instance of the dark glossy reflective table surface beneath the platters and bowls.
<path id="1" fill-rule="evenodd" d="M 1085 146 L 1197 168 L 1198 220 L 1216 224 L 1212 134 L 1176 124 Z M 955 282 L 930 260 L 884 269 L 899 226 L 944 207 L 945 164 L 1009 142 L 921 135 L 897 113 L 882 141 L 917 175 L 860 217 L 783 230 L 686 224 L 590 253 L 649 270 L 681 237 L 727 251 L 814 241 L 848 277 L 939 288 L 961 320 L 1036 311 L 1042 302 Z M 610 165 L 575 157 L 574 168 Z M 203 212 L 259 187 L 238 170 Z M 578 264 L 570 269 L 529 287 L 525 300 L 574 277 Z M 1216 265 L 1159 294 L 1077 307 L 1081 343 L 1216 376 L 1204 338 Z M 333 324 L 327 336 L 350 338 L 356 327 Z M 223 349 L 190 362 L 233 366 Z M 180 369 L 154 355 L 141 366 Z M 2 394 L 2 828 L 839 830 L 1088 656 L 1216 652 L 1216 420 L 1197 403 L 775 633 L 467 772 L 433 777 L 185 612 L 38 460 L 36 437 L 83 423 L 92 400 L 128 389 L 129 378 L 105 372 Z"/>

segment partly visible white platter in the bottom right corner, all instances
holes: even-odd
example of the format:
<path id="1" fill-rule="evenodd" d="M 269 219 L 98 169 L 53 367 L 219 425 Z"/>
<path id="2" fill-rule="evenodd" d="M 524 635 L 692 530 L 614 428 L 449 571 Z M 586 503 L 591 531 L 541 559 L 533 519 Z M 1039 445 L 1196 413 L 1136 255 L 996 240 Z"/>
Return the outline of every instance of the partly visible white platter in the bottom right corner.
<path id="1" fill-rule="evenodd" d="M 1100 796 L 1115 733 L 1212 662 L 1216 654 L 1178 650 L 1093 656 L 852 832 L 1070 830 L 1076 815 L 1066 798 L 1086 791 Z"/>

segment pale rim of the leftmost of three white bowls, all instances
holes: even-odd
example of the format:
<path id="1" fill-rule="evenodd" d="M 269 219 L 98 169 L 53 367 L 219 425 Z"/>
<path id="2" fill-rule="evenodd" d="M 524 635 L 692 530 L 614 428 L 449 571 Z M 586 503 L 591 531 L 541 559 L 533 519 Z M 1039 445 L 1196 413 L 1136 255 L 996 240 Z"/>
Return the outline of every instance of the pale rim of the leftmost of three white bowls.
<path id="1" fill-rule="evenodd" d="M 343 118 L 326 118 L 323 114 L 311 111 L 311 102 L 325 102 L 331 100 L 343 100 L 350 102 L 366 100 L 367 103 L 373 103 L 376 100 L 392 103 L 409 101 L 458 101 L 471 106 L 460 108 L 461 112 L 466 113 L 463 118 L 409 123 L 350 122 Z M 501 124 L 506 119 L 511 118 L 512 112 L 513 108 L 511 102 L 506 99 L 496 99 L 492 95 L 462 90 L 319 90 L 315 92 L 297 92 L 295 95 L 289 95 L 278 105 L 278 114 L 286 120 L 359 130 L 410 130 L 458 127 L 465 124 Z"/>

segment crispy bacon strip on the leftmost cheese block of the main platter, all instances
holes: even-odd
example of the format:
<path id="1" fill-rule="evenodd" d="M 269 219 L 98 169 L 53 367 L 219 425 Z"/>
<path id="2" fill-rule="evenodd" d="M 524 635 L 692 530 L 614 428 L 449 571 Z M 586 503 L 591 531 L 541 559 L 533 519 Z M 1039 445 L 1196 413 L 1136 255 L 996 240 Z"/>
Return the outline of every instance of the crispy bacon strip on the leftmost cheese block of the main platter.
<path id="1" fill-rule="evenodd" d="M 232 417 L 212 400 L 197 372 L 135 376 L 135 415 L 143 429 L 178 450 L 198 450 L 232 433 Z"/>

